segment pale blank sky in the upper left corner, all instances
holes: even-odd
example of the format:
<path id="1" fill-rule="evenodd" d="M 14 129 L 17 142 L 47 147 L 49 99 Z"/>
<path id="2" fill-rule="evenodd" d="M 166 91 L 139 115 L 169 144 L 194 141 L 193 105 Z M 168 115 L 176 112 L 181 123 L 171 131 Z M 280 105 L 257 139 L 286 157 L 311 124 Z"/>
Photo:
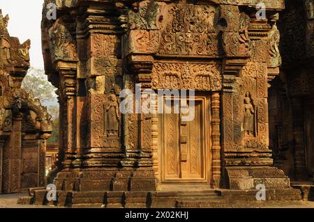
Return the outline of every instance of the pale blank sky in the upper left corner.
<path id="1" fill-rule="evenodd" d="M 3 16 L 10 17 L 8 32 L 10 36 L 20 38 L 20 42 L 30 39 L 31 66 L 43 69 L 43 54 L 41 51 L 41 10 L 44 0 L 0 0 Z"/>

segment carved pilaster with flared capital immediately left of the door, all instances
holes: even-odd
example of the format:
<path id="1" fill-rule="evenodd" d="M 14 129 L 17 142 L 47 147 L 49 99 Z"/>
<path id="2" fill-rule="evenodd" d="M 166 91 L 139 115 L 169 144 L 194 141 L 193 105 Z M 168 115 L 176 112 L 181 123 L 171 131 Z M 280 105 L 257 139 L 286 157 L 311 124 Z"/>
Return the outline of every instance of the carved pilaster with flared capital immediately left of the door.
<path id="1" fill-rule="evenodd" d="M 152 109 L 156 109 L 156 104 L 154 107 L 144 106 L 144 102 L 149 101 L 149 96 L 145 94 L 145 90 L 151 91 L 151 70 L 153 68 L 154 58 L 147 54 L 133 54 L 129 57 L 130 67 L 135 76 L 135 83 L 140 86 L 141 97 L 137 98 L 135 106 L 137 106 L 137 111 L 140 113 L 138 116 L 138 134 L 139 134 L 139 146 L 138 146 L 138 160 L 136 169 L 131 181 L 132 190 L 156 190 L 156 177 L 154 175 L 153 166 L 153 149 L 156 150 L 156 140 L 154 141 L 155 146 L 152 147 L 153 136 L 156 138 L 156 128 L 152 128 L 152 120 L 156 122 L 156 116 L 153 118 Z M 151 98 L 152 99 L 152 98 Z M 149 109 L 149 110 L 144 110 Z M 154 130 L 154 131 L 153 131 Z"/>

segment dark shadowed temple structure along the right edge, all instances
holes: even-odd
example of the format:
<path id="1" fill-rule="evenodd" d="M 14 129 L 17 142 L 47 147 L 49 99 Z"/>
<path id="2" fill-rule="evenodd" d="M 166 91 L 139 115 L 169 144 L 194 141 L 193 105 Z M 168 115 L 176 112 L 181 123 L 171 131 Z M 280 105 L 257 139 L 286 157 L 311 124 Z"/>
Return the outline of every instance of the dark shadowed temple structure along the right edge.
<path id="1" fill-rule="evenodd" d="M 283 65 L 269 88 L 274 165 L 305 193 L 314 173 L 314 1 L 285 1 L 278 29 Z"/>

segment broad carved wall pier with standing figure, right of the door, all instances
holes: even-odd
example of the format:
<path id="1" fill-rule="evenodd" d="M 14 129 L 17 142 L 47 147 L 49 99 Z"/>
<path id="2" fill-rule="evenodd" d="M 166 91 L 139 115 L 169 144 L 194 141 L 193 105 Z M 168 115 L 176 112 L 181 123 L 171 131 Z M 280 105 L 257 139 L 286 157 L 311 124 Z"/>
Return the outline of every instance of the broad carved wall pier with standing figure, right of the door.
<path id="1" fill-rule="evenodd" d="M 232 11 L 237 12 L 237 9 Z M 278 74 L 281 65 L 276 12 L 270 12 L 267 19 L 257 19 L 255 13 L 240 13 L 240 42 L 250 41 L 246 47 L 240 46 L 234 51 L 236 57 L 246 57 L 244 67 L 237 72 L 234 66 L 241 63 L 225 58 L 222 95 L 225 187 L 249 190 L 263 184 L 269 190 L 290 192 L 290 180 L 283 171 L 272 166 L 269 150 L 268 82 Z M 225 42 L 230 37 L 227 34 L 223 35 Z M 231 58 L 234 56 L 231 51 L 225 51 Z M 228 65 L 230 62 L 233 65 Z"/>

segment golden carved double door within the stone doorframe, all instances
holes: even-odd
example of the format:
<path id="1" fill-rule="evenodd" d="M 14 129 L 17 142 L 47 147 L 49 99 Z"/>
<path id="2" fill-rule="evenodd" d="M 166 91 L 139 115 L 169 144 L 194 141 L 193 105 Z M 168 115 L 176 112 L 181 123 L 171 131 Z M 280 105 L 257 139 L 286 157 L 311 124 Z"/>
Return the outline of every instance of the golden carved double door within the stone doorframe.
<path id="1" fill-rule="evenodd" d="M 163 182 L 209 180 L 209 102 L 206 97 L 197 97 L 194 103 L 193 120 L 184 122 L 182 113 L 174 113 L 173 100 L 172 113 L 162 116 Z"/>

